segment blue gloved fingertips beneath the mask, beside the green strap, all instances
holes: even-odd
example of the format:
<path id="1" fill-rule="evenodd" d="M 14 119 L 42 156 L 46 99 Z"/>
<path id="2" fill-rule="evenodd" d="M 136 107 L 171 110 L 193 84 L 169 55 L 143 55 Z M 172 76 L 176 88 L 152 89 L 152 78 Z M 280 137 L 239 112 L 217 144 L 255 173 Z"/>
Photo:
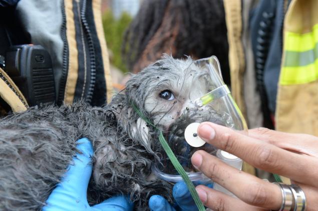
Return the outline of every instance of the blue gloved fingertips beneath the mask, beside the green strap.
<path id="1" fill-rule="evenodd" d="M 195 185 L 202 184 L 201 182 L 194 182 Z M 213 187 L 213 183 L 208 183 L 206 186 Z M 193 211 L 198 210 L 191 193 L 184 182 L 177 182 L 172 189 L 175 203 L 171 205 L 161 195 L 153 195 L 149 199 L 150 210 L 156 211 Z"/>

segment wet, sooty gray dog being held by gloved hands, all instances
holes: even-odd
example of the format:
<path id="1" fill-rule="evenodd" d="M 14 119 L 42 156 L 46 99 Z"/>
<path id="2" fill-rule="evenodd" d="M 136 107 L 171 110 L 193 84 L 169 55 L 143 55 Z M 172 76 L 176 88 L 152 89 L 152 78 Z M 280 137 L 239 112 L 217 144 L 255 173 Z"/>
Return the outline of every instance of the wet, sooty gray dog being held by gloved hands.
<path id="1" fill-rule="evenodd" d="M 151 172 L 151 165 L 160 162 L 164 153 L 157 131 L 140 118 L 132 103 L 164 133 L 182 136 L 182 125 L 222 122 L 212 108 L 194 107 L 193 100 L 211 87 L 206 87 L 207 75 L 188 68 L 191 63 L 191 58 L 165 55 L 134 75 L 125 90 L 103 107 L 81 102 L 33 107 L 1 119 L 0 209 L 41 209 L 71 163 L 81 137 L 90 139 L 95 151 L 90 203 L 118 194 L 130 194 L 136 210 L 149 209 L 153 194 L 171 202 L 173 184 Z"/>

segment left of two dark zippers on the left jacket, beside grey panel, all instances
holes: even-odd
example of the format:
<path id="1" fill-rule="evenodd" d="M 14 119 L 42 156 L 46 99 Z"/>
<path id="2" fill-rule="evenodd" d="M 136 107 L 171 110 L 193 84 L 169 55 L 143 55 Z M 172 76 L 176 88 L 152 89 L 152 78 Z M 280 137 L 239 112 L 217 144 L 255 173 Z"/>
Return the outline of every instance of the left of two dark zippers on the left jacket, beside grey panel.
<path id="1" fill-rule="evenodd" d="M 69 45 L 66 37 L 66 14 L 64 8 L 64 0 L 61 0 L 61 10 L 62 10 L 62 27 L 61 27 L 61 38 L 63 40 L 63 57 L 62 57 L 62 76 L 59 84 L 59 92 L 58 92 L 58 100 L 57 104 L 61 105 L 64 100 L 64 92 L 66 87 L 66 77 L 68 73 L 68 65 L 69 65 Z"/>

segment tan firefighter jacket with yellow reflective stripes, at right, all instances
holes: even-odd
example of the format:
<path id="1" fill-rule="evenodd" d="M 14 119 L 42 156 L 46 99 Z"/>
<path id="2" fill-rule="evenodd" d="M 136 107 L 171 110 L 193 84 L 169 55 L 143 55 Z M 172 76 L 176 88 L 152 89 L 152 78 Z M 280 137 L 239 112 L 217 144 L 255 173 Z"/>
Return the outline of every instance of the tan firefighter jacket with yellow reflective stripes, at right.
<path id="1" fill-rule="evenodd" d="M 266 106 L 267 118 L 274 114 L 275 129 L 318 135 L 318 2 L 253 2 L 224 0 L 233 97 L 250 127 L 264 125 L 250 109 L 264 112 Z M 247 21 L 244 12 L 251 14 Z M 251 44 L 244 42 L 246 31 Z M 250 68 L 253 81 L 246 83 Z M 262 105 L 246 100 L 247 92 Z M 266 116 L 261 117 L 264 123 Z"/>

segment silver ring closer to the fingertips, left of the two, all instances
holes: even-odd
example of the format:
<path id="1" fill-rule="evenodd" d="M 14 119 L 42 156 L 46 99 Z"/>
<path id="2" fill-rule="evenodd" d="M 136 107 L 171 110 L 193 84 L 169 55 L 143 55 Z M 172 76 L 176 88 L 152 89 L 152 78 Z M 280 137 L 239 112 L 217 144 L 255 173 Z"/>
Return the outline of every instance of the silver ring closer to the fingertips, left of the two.
<path id="1" fill-rule="evenodd" d="M 295 200 L 291 191 L 291 188 L 287 184 L 274 182 L 274 184 L 277 184 L 280 187 L 281 190 L 281 196 L 282 196 L 282 202 L 281 206 L 278 209 L 278 211 L 290 211 L 295 206 Z"/>

